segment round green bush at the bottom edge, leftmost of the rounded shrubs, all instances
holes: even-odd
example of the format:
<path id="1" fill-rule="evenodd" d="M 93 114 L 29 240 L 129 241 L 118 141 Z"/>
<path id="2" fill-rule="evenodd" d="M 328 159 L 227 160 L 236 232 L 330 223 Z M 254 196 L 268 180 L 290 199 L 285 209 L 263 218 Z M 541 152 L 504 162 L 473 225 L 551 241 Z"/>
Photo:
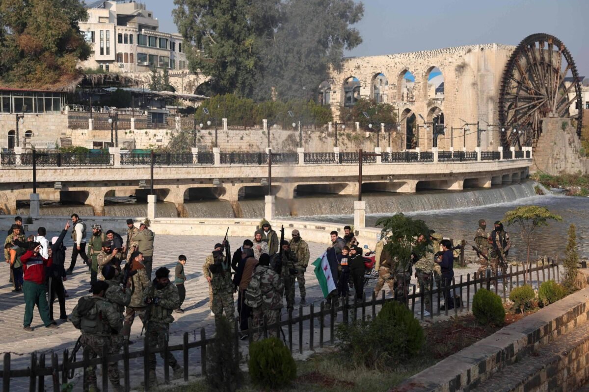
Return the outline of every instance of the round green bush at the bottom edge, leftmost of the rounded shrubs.
<path id="1" fill-rule="evenodd" d="M 247 367 L 252 382 L 265 389 L 285 387 L 296 378 L 293 356 L 276 337 L 252 343 Z"/>

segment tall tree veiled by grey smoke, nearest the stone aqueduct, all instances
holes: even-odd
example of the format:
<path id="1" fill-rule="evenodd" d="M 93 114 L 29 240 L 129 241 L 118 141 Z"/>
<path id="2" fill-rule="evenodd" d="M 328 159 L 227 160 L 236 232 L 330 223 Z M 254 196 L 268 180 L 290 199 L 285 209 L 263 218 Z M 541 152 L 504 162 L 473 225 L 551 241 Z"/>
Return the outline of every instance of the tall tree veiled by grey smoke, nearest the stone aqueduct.
<path id="1" fill-rule="evenodd" d="M 254 98 L 309 99 L 330 68 L 340 69 L 343 51 L 362 43 L 350 25 L 362 19 L 364 7 L 353 0 L 289 0 L 281 10 L 279 28 L 262 41 Z"/>

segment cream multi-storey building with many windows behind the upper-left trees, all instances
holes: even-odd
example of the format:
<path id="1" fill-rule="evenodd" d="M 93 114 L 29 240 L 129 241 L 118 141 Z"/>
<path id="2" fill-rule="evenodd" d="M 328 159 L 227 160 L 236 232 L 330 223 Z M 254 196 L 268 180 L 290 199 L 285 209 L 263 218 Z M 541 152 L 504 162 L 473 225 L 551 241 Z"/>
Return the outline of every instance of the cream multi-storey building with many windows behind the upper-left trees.
<path id="1" fill-rule="evenodd" d="M 97 1 L 88 6 L 80 29 L 92 47 L 83 68 L 105 72 L 170 72 L 188 68 L 182 37 L 159 30 L 153 12 L 134 0 Z"/>

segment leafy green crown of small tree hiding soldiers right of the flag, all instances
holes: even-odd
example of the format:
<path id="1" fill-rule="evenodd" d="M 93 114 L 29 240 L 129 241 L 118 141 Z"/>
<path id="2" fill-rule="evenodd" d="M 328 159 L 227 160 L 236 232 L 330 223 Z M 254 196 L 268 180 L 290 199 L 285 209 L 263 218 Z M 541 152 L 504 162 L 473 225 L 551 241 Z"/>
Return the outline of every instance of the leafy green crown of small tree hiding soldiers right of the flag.
<path id="1" fill-rule="evenodd" d="M 411 262 L 411 253 L 423 256 L 431 244 L 430 229 L 425 222 L 421 219 L 411 219 L 403 213 L 380 218 L 376 221 L 376 226 L 382 226 L 380 238 L 386 242 L 385 250 L 394 255 L 403 267 Z"/>

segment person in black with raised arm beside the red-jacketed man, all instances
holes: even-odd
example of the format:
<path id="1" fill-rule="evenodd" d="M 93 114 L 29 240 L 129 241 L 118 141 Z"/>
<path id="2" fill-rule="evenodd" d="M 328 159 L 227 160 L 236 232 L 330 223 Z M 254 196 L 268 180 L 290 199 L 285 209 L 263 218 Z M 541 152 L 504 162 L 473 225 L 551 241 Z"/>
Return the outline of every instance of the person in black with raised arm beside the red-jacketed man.
<path id="1" fill-rule="evenodd" d="M 59 319 L 67 320 L 65 313 L 65 289 L 64 280 L 67 280 L 65 273 L 65 246 L 64 238 L 70 228 L 70 222 L 65 223 L 65 228 L 59 233 L 59 237 L 53 237 L 51 240 L 51 256 L 53 263 L 47 268 L 47 292 L 49 293 L 49 319 L 53 321 L 53 303 L 55 297 L 59 301 Z"/>

